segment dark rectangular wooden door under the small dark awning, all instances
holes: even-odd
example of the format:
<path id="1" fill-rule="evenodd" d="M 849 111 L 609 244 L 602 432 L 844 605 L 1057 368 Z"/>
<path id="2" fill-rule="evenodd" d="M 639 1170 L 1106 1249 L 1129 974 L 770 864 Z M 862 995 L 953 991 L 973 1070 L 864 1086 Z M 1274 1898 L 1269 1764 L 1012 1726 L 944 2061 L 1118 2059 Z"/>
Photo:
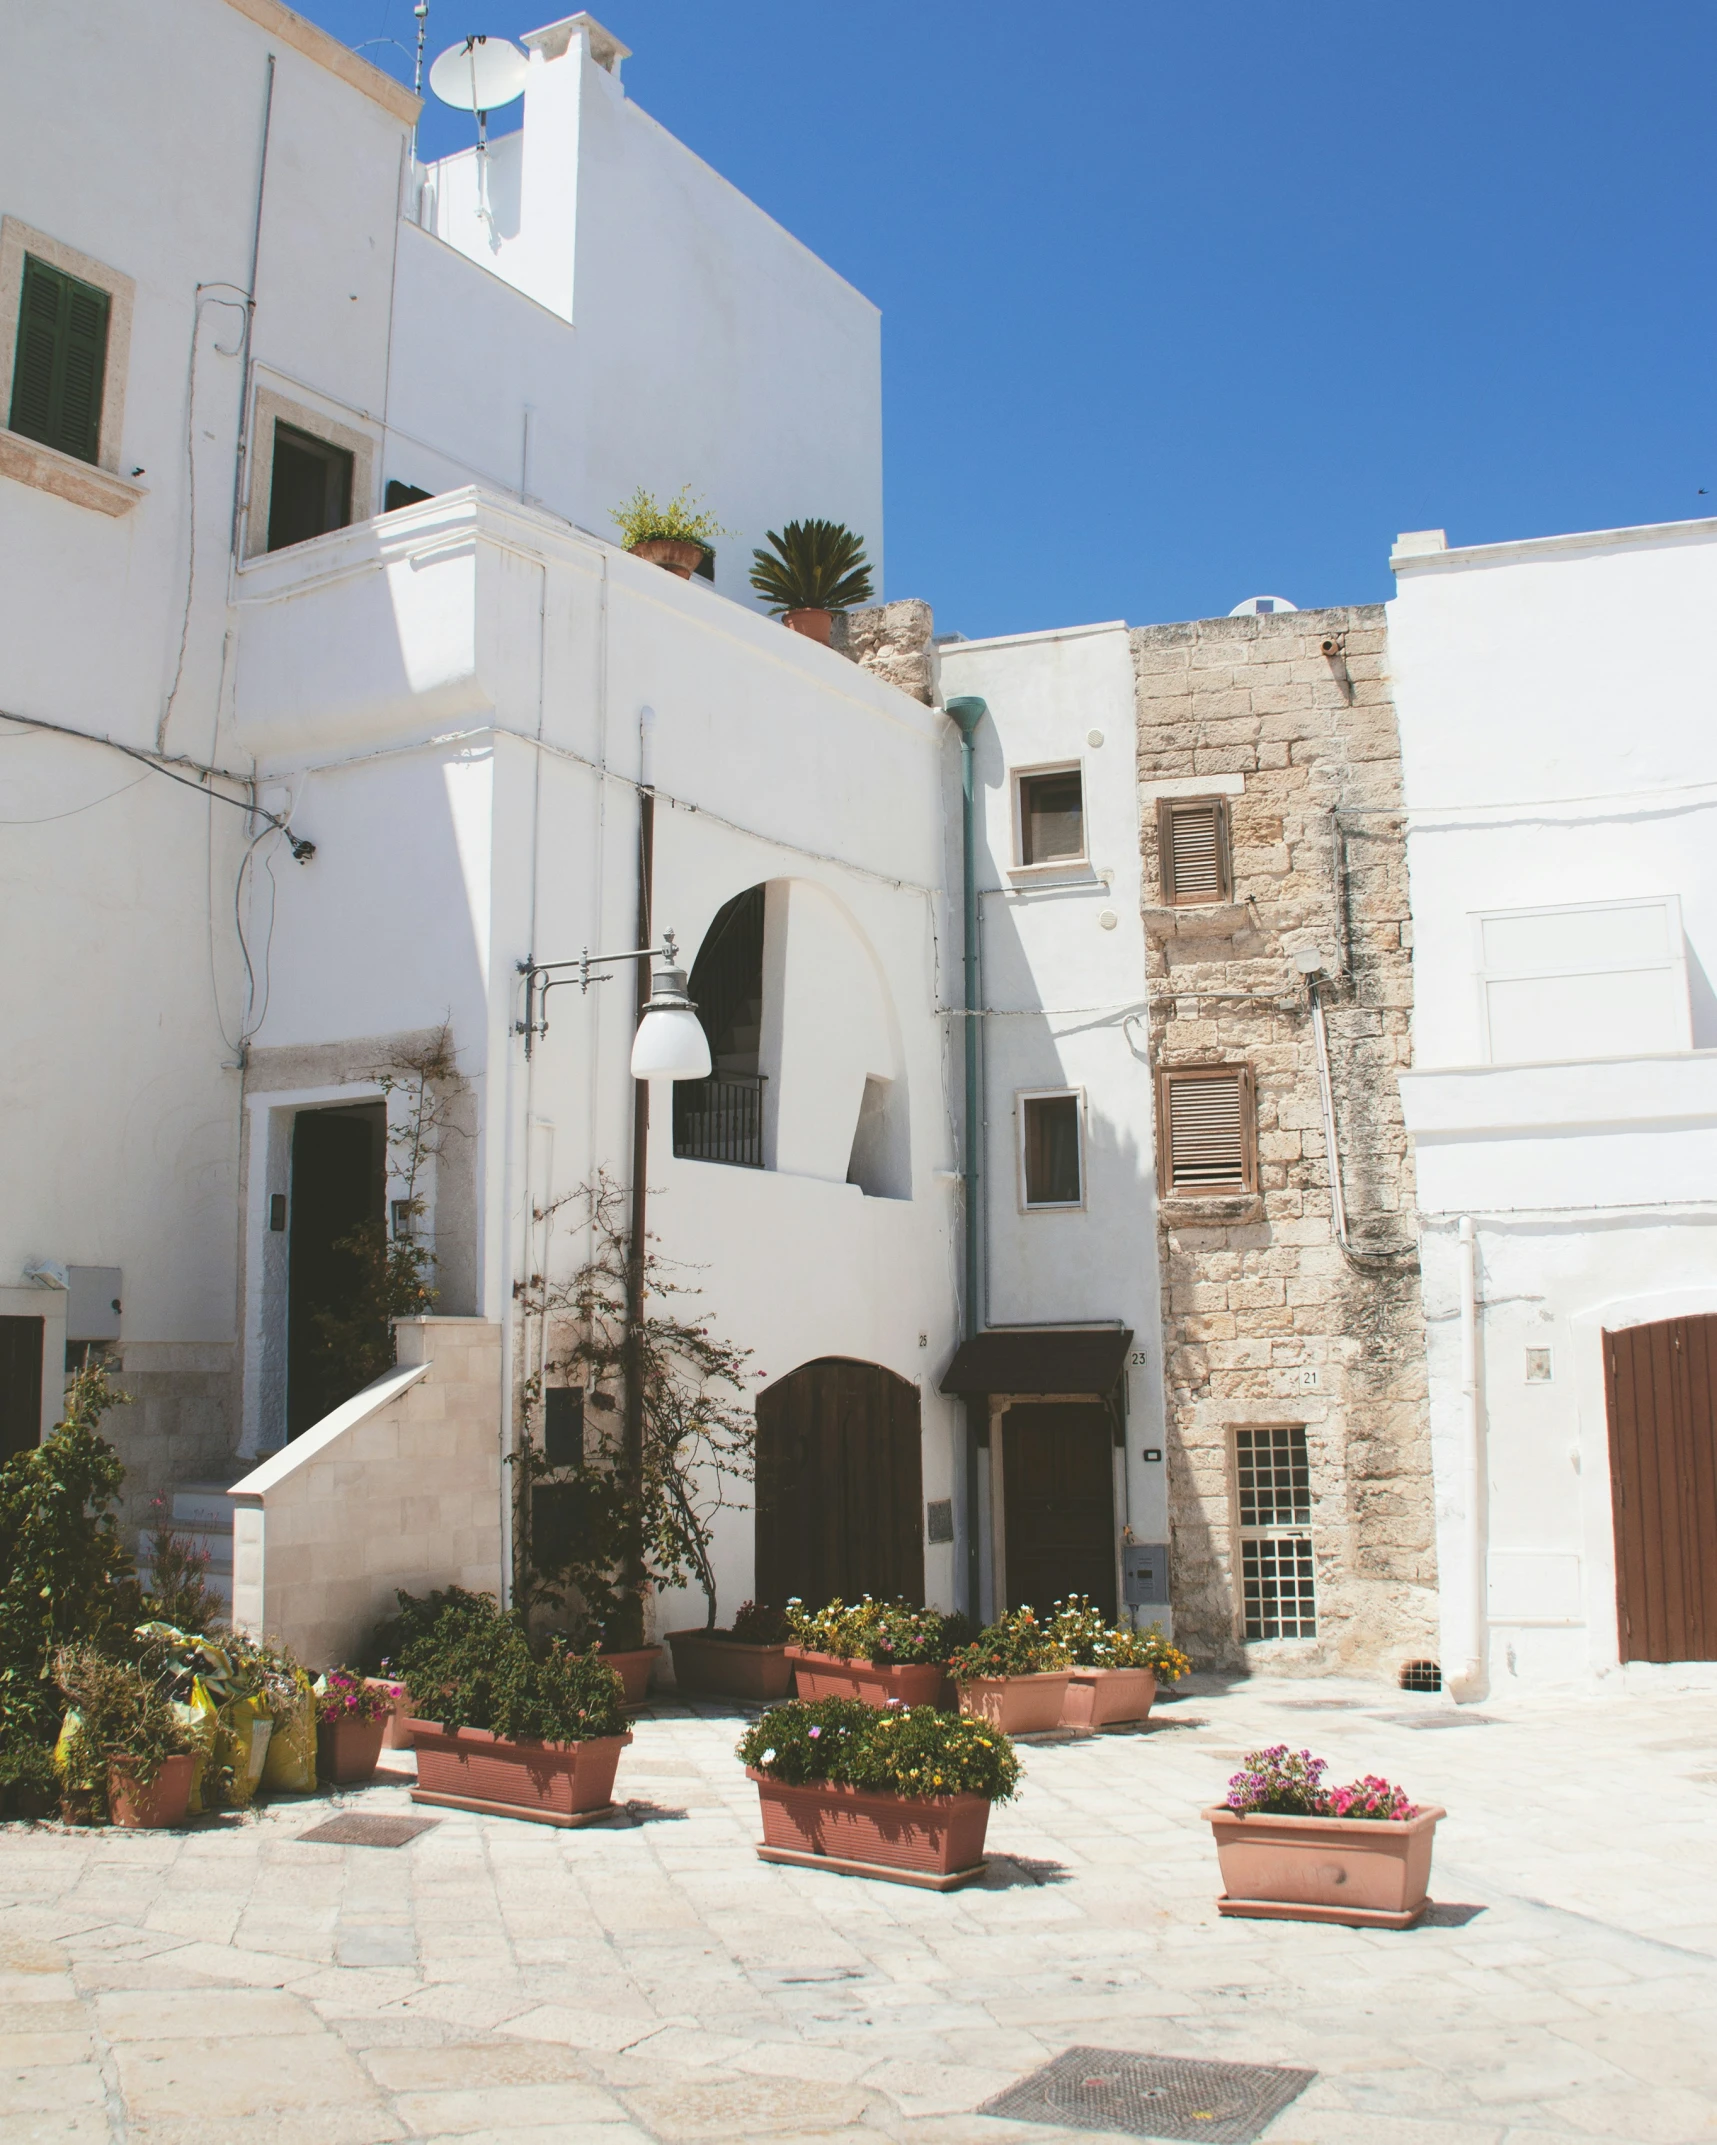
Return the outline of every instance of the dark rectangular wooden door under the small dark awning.
<path id="1" fill-rule="evenodd" d="M 1112 1454 L 1105 1407 L 1034 1401 L 1002 1416 L 1009 1609 L 1090 1594 L 1114 1622 Z"/>

